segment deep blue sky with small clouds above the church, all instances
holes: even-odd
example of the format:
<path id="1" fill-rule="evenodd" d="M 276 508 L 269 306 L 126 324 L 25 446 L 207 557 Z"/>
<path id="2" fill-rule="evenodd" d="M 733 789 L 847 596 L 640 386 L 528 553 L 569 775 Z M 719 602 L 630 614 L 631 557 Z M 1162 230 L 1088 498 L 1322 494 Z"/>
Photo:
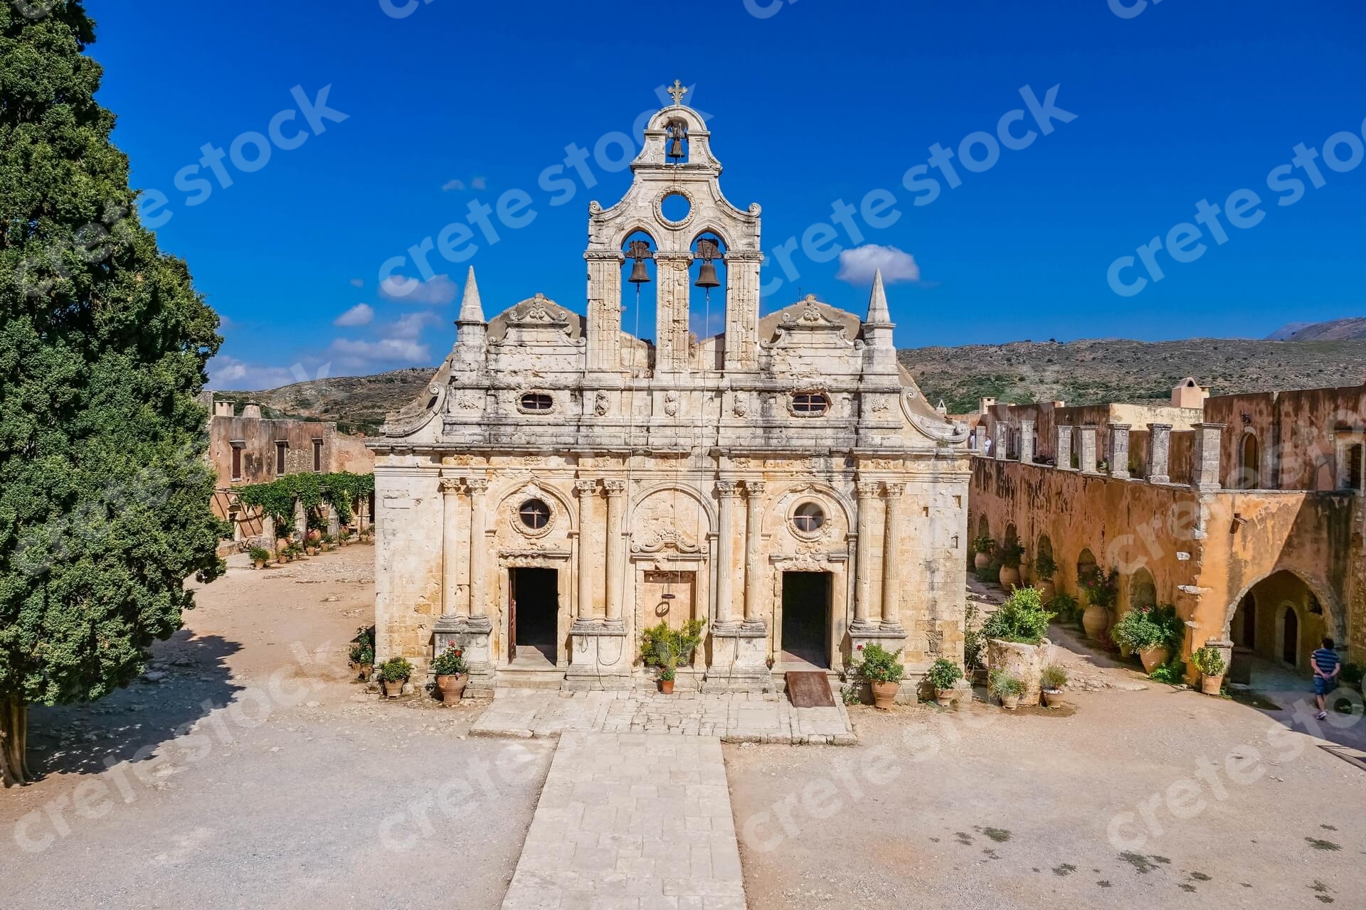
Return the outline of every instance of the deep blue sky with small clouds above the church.
<path id="1" fill-rule="evenodd" d="M 407 15 L 385 10 L 406 1 Z M 587 203 L 613 203 L 630 171 L 590 157 L 587 188 L 563 166 L 566 147 L 591 153 L 604 135 L 631 132 L 673 79 L 694 86 L 687 101 L 710 116 L 727 196 L 764 206 L 765 250 L 829 222 L 836 199 L 856 209 L 876 190 L 895 196 L 891 226 L 854 220 L 861 243 L 836 226 L 843 263 L 816 262 L 800 244 L 791 273 L 770 258 L 765 311 L 799 292 L 862 311 L 862 266 L 881 259 L 907 278 L 889 287 L 900 347 L 1262 337 L 1291 321 L 1366 315 L 1366 166 L 1346 168 L 1354 146 L 1341 136 L 1344 169 L 1322 158 L 1335 134 L 1359 145 L 1366 130 L 1361 4 L 1113 3 L 1131 7 L 1127 16 L 1111 0 L 89 7 L 92 53 L 105 65 L 100 100 L 119 116 L 134 186 L 165 195 L 148 210 L 164 220 L 161 246 L 189 261 L 224 317 L 217 387 L 436 364 L 469 265 L 490 317 L 535 292 L 582 311 Z M 309 104 L 331 86 L 326 106 L 346 119 L 310 124 L 295 86 Z M 966 169 L 960 143 L 1000 136 L 1008 112 L 1024 112 L 1007 124 L 1012 145 L 1040 130 L 1023 86 L 1041 105 L 1059 86 L 1056 108 L 1075 119 L 1049 120 L 1027 147 L 997 146 L 994 164 Z M 219 165 L 225 187 L 199 165 L 201 146 L 231 151 L 291 109 L 277 134 L 294 145 L 302 130 L 302 145 L 272 147 L 250 172 L 229 156 Z M 955 153 L 956 188 L 928 162 L 936 143 Z M 1310 166 L 1324 186 L 1291 165 L 1298 143 L 1318 151 Z M 258 151 L 247 141 L 240 161 L 254 166 Z M 967 151 L 985 161 L 990 149 Z M 195 165 L 178 188 L 178 172 Z M 575 177 L 561 205 L 550 202 L 563 191 L 538 186 L 555 165 Z M 926 169 L 907 188 L 915 165 Z M 1277 203 L 1291 190 L 1268 188 L 1280 165 L 1292 166 L 1281 180 L 1305 184 L 1294 205 Z M 212 192 L 190 205 L 204 196 L 191 181 L 205 177 Z M 915 205 L 930 192 L 914 181 L 929 177 L 940 194 Z M 1195 221 L 1201 199 L 1223 209 L 1242 188 L 1261 201 L 1240 216 L 1254 225 L 1225 214 L 1198 241 L 1173 231 Z M 382 295 L 387 261 L 406 256 L 395 274 L 421 280 L 410 247 L 464 224 L 471 203 L 492 207 L 518 190 L 531 199 L 530 224 L 494 217 L 496 243 L 474 226 L 467 261 L 429 256 L 448 280 L 398 302 Z M 1117 271 L 1121 287 L 1152 277 L 1137 248 L 1153 237 L 1175 241 L 1183 259 L 1206 248 L 1188 262 L 1153 252 L 1162 280 L 1116 293 L 1108 271 L 1121 256 L 1135 256 Z"/>

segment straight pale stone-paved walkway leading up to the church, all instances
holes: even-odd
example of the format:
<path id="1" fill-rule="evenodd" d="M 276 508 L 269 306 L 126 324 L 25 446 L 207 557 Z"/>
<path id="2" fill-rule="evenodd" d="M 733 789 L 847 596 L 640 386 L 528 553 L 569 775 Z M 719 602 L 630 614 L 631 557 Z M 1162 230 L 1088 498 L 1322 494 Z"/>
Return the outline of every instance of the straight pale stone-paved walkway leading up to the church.
<path id="1" fill-rule="evenodd" d="M 560 737 L 503 910 L 744 910 L 716 737 Z"/>

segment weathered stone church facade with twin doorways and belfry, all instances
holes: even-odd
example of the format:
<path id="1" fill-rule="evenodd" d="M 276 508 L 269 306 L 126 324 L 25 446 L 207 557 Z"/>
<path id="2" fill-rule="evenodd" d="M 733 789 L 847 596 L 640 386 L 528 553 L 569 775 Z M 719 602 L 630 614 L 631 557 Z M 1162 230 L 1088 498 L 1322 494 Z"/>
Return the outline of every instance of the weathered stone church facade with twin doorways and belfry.
<path id="1" fill-rule="evenodd" d="M 486 321 L 471 269 L 451 355 L 370 443 L 378 658 L 455 641 L 475 690 L 624 688 L 643 629 L 698 619 L 680 686 L 769 689 L 876 641 L 910 694 L 962 660 L 966 427 L 899 367 L 881 276 L 863 319 L 813 296 L 759 318 L 759 206 L 721 195 L 695 111 L 654 115 L 631 169 L 589 206 L 587 315 L 538 293 Z M 642 284 L 653 341 L 622 326 Z"/>

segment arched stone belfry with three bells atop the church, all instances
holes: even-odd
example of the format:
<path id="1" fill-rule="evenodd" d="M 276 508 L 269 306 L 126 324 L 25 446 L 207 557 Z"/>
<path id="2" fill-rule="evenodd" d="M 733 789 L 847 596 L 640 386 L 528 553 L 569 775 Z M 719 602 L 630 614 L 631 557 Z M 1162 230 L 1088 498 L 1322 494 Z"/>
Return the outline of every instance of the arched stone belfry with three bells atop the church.
<path id="1" fill-rule="evenodd" d="M 712 154 L 712 134 L 701 115 L 683 104 L 687 89 L 673 82 L 671 106 L 645 128 L 645 146 L 631 162 L 631 188 L 604 209 L 589 205 L 587 368 L 620 372 L 622 266 L 634 259 L 632 282 L 656 282 L 656 372 L 690 368 L 688 310 L 693 265 L 701 261 L 697 287 L 720 287 L 716 262 L 725 265 L 727 371 L 758 368 L 759 206 L 736 209 L 721 194 L 721 162 Z M 653 252 L 626 241 L 643 232 Z M 719 244 L 716 241 L 720 241 Z M 650 278 L 646 261 L 654 262 Z"/>

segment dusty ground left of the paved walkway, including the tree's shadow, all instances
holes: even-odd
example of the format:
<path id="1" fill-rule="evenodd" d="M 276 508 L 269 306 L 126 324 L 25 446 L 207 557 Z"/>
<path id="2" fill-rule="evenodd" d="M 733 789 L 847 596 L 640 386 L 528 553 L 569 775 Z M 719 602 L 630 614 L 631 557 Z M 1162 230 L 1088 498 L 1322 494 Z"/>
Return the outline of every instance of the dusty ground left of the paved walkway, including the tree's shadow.
<path id="1" fill-rule="evenodd" d="M 34 711 L 0 906 L 497 907 L 553 744 L 467 739 L 477 709 L 347 679 L 374 548 L 234 566 L 198 602 L 156 681 Z"/>

